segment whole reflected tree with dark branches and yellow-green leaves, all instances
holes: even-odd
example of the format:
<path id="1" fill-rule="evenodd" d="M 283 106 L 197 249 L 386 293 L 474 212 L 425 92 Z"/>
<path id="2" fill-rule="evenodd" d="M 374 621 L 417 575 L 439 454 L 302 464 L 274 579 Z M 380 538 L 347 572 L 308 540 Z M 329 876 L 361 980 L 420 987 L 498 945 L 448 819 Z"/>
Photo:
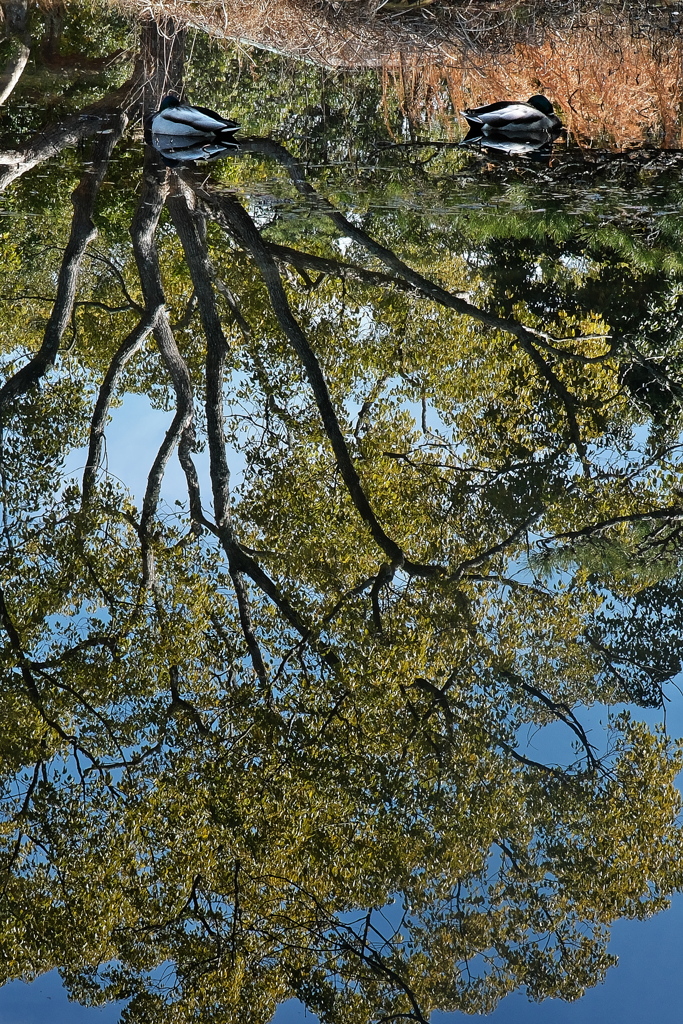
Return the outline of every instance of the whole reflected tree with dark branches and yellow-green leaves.
<path id="1" fill-rule="evenodd" d="M 266 1021 L 292 994 L 329 1021 L 485 1011 L 518 985 L 574 997 L 611 963 L 609 923 L 680 883 L 678 754 L 624 718 L 598 742 L 577 711 L 661 700 L 605 592 L 646 589 L 650 620 L 674 607 L 675 444 L 605 467 L 631 423 L 616 340 L 477 306 L 268 139 L 245 151 L 286 170 L 307 244 L 147 153 L 137 279 L 98 252 L 103 301 L 84 271 L 100 187 L 126 120 L 178 83 L 175 42 L 148 24 L 124 88 L 3 155 L 7 183 L 91 139 L 42 343 L 0 390 L 5 976 L 57 966 L 139 1021 Z M 98 379 L 87 358 L 83 378 L 54 370 L 79 294 L 125 316 L 87 338 L 114 351 Z M 100 463 L 150 338 L 174 415 L 137 509 Z M 551 722 L 577 745 L 546 762 L 519 730 Z"/>

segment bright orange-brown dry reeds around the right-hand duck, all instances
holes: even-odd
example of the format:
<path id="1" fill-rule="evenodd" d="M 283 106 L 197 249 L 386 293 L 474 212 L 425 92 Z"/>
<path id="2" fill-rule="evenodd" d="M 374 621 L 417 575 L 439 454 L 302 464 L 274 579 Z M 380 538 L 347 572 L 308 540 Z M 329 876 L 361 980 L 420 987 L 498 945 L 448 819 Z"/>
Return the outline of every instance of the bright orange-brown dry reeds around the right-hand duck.
<path id="1" fill-rule="evenodd" d="M 584 144 L 683 145 L 683 34 L 671 25 L 589 19 L 460 61 L 399 56 L 385 66 L 385 85 L 412 120 L 433 111 L 446 129 L 463 124 L 452 115 L 467 106 L 544 92 Z"/>

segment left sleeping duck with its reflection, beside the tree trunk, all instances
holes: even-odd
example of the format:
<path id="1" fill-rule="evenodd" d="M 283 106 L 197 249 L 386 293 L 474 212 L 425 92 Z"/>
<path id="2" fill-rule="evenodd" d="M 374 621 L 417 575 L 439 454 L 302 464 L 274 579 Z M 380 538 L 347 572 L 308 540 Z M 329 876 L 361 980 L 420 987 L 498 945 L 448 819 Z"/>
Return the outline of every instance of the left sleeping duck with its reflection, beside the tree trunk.
<path id="1" fill-rule="evenodd" d="M 144 123 L 146 141 L 173 163 L 211 160 L 238 150 L 233 136 L 239 130 L 237 121 L 228 121 L 208 106 L 183 103 L 174 93 L 165 96 Z"/>

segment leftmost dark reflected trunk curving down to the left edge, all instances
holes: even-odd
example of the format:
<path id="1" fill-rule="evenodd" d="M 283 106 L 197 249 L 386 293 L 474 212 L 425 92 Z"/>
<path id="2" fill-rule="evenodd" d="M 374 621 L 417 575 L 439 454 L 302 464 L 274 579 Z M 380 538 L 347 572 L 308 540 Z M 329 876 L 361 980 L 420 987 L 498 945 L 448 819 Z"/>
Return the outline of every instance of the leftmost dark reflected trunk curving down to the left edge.
<path id="1" fill-rule="evenodd" d="M 88 244 L 97 233 L 92 222 L 95 199 L 106 173 L 112 151 L 121 137 L 125 124 L 125 116 L 120 114 L 116 128 L 100 135 L 94 143 L 92 164 L 72 196 L 74 216 L 71 236 L 61 261 L 56 298 L 45 328 L 43 343 L 34 357 L 0 388 L 0 413 L 7 402 L 33 387 L 54 365 L 61 337 L 74 308 L 81 262 Z"/>

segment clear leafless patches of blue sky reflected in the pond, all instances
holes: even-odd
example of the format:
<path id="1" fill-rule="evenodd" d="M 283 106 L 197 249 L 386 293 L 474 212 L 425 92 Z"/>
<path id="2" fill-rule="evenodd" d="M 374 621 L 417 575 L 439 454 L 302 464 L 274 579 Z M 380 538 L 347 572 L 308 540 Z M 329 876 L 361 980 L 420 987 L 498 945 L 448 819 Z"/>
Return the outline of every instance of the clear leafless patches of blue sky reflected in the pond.
<path id="1" fill-rule="evenodd" d="M 359 328 L 371 334 L 374 325 L 361 319 Z M 387 382 L 387 388 L 397 381 Z M 401 400 L 400 408 L 420 422 L 422 410 L 417 402 Z M 359 404 L 352 399 L 346 412 L 357 416 Z M 156 453 L 168 429 L 172 413 L 155 410 L 143 395 L 129 394 L 123 406 L 112 410 L 112 421 L 106 428 L 105 471 L 121 480 L 131 493 L 135 503 L 141 504 L 146 477 Z M 430 429 L 444 430 L 438 413 L 429 408 Z M 640 439 L 640 438 L 638 438 Z M 74 453 L 68 472 L 82 474 L 85 452 Z M 204 505 L 210 508 L 210 482 L 206 452 L 196 453 L 195 462 L 200 475 Z M 242 475 L 242 460 L 230 459 L 232 484 Z M 184 475 L 174 454 L 166 469 L 162 487 L 162 502 L 168 512 L 175 511 L 176 500 L 186 503 Z M 162 514 L 163 510 L 162 510 Z M 521 566 L 518 575 L 523 578 Z M 672 736 L 683 736 L 683 699 L 672 692 L 668 706 L 667 726 Z M 612 709 L 614 714 L 622 709 Z M 632 712 L 633 708 L 630 709 Z M 607 718 L 604 708 L 583 709 L 579 715 L 591 739 L 600 745 L 603 725 Z M 661 721 L 658 711 L 638 711 L 638 717 L 650 725 Z M 573 734 L 559 723 L 542 729 L 525 728 L 519 734 L 520 749 L 536 760 L 548 763 L 567 763 L 573 760 L 571 740 Z M 674 901 L 671 911 L 658 914 L 647 922 L 620 922 L 612 930 L 611 951 L 620 956 L 620 967 L 607 975 L 601 986 L 590 990 L 575 1004 L 546 1000 L 528 1004 L 522 993 L 508 996 L 487 1019 L 493 1024 L 674 1024 L 681 1019 L 683 1004 L 683 897 Z M 78 941 L 78 937 L 74 937 Z M 70 1004 L 61 988 L 56 972 L 39 978 L 32 984 L 12 982 L 0 990 L 0 1024 L 115 1024 L 122 1005 L 105 1008 L 83 1008 Z M 471 1018 L 470 1018 L 471 1019 Z M 312 1024 L 316 1018 L 306 1015 L 303 1008 L 290 1000 L 275 1014 L 273 1024 Z M 434 1024 L 459 1024 L 463 1014 L 435 1014 Z"/>

